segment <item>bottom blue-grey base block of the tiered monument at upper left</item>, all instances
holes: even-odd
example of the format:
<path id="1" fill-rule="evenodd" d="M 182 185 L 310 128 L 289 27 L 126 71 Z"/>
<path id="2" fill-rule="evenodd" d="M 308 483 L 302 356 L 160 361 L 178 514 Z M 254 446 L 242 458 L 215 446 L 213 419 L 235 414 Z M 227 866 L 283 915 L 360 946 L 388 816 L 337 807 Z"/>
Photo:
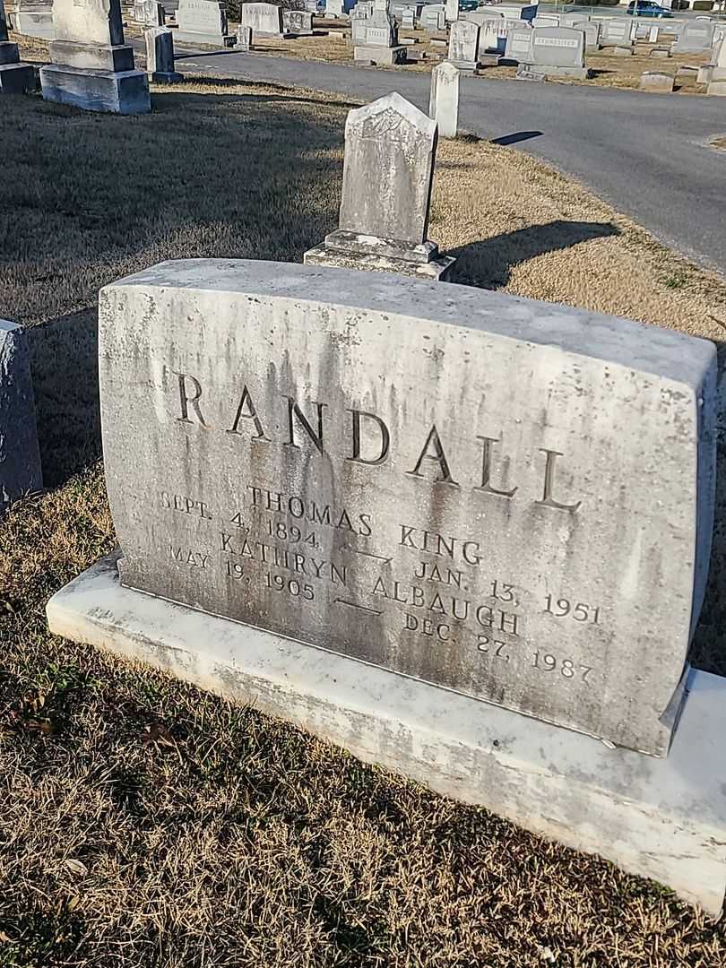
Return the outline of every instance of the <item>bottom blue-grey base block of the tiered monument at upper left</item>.
<path id="1" fill-rule="evenodd" d="M 63 64 L 41 68 L 45 101 L 86 111 L 146 114 L 151 110 L 149 82 L 143 71 L 83 71 Z"/>

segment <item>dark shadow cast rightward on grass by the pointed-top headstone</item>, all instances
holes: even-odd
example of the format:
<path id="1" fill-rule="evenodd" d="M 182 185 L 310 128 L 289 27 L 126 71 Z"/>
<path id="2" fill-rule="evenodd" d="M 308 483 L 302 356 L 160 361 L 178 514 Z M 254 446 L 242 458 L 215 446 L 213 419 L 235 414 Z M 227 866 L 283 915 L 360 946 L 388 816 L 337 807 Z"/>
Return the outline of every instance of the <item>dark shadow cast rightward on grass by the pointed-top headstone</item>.
<path id="1" fill-rule="evenodd" d="M 620 229 L 609 222 L 564 222 L 560 219 L 544 226 L 518 228 L 450 250 L 447 255 L 457 259 L 451 281 L 498 289 L 509 282 L 512 268 L 529 258 L 569 249 L 590 239 L 619 234 Z"/>

